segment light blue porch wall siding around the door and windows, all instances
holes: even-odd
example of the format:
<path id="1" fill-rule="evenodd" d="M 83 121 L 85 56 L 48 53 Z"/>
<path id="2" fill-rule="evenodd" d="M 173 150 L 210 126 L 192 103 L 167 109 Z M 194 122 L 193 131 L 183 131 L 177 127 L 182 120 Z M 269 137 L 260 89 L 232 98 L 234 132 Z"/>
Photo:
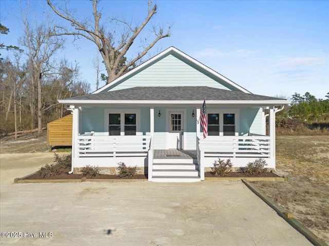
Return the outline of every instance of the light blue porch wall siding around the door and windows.
<path id="1" fill-rule="evenodd" d="M 171 110 L 186 110 L 186 135 L 185 148 L 189 150 L 196 149 L 196 108 L 188 107 L 168 107 Z M 150 107 L 87 107 L 81 110 L 81 129 L 80 133 L 95 131 L 96 133 L 104 132 L 104 113 L 105 110 L 140 110 L 140 131 L 143 135 L 150 134 Z M 230 109 L 239 109 L 239 135 L 248 135 L 249 132 L 262 134 L 262 109 L 250 107 L 223 107 L 214 108 L 207 107 L 207 111 L 229 111 Z M 161 117 L 158 117 L 159 110 Z M 167 129 L 166 123 L 169 115 L 167 115 L 166 107 L 154 108 L 154 149 L 166 149 L 167 144 Z M 194 110 L 195 117 L 192 117 Z"/>

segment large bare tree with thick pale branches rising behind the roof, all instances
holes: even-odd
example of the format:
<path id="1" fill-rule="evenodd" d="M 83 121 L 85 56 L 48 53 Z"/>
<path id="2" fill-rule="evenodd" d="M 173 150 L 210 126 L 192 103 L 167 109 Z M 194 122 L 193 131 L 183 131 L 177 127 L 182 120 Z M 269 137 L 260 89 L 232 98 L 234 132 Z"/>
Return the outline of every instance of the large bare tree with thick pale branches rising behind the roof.
<path id="1" fill-rule="evenodd" d="M 87 38 L 91 42 L 93 42 L 105 64 L 105 68 L 107 71 L 107 83 L 110 83 L 114 79 L 120 77 L 125 72 L 129 71 L 132 66 L 135 66 L 137 61 L 148 53 L 148 51 L 161 39 L 170 36 L 170 28 L 171 25 L 168 27 L 168 30 L 165 31 L 164 28 L 161 26 L 152 26 L 152 32 L 154 33 L 155 37 L 153 40 L 148 42 L 146 40 L 145 43 L 142 42 L 142 51 L 138 52 L 135 58 L 132 58 L 123 66 L 120 66 L 120 62 L 122 58 L 127 53 L 127 51 L 133 45 L 136 37 L 141 33 L 143 28 L 147 26 L 150 22 L 152 17 L 157 12 L 157 6 L 153 5 L 152 2 L 149 1 L 148 3 L 148 15 L 143 20 L 142 24 L 137 26 L 132 26 L 131 23 L 126 22 L 123 19 L 112 18 L 111 22 L 115 24 L 122 24 L 123 29 L 120 34 L 116 34 L 115 32 L 107 31 L 105 25 L 100 23 L 100 19 L 102 13 L 98 11 L 97 4 L 98 0 L 92 0 L 93 2 L 93 21 L 85 18 L 82 20 L 77 19 L 74 15 L 74 12 L 71 12 L 67 8 L 67 2 L 65 2 L 65 7 L 55 7 L 50 0 L 47 0 L 48 5 L 52 8 L 52 10 L 59 15 L 60 17 L 67 20 L 74 29 L 67 29 L 65 27 L 57 26 L 55 28 L 57 35 L 74 35 L 75 37 L 82 36 Z M 108 25 L 109 23 L 106 23 Z"/>

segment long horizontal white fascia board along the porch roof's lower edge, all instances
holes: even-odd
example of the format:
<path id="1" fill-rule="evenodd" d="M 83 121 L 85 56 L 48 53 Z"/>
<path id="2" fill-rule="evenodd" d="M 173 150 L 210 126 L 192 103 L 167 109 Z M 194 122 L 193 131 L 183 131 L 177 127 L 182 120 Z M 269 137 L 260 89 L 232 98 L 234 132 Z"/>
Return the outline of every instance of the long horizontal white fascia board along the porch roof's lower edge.
<path id="1" fill-rule="evenodd" d="M 202 105 L 203 100 L 58 100 L 66 105 Z M 287 105 L 288 100 L 209 100 L 207 105 L 269 106 Z"/>

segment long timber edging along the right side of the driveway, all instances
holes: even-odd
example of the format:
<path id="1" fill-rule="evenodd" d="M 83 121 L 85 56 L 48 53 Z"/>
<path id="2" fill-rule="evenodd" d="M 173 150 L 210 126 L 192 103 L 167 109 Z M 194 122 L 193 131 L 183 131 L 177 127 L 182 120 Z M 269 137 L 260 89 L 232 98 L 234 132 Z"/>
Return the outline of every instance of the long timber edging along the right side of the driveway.
<path id="1" fill-rule="evenodd" d="M 261 192 L 257 187 L 253 186 L 246 179 L 241 179 L 242 182 L 257 196 L 259 196 L 263 201 L 265 201 L 268 206 L 275 210 L 281 217 L 283 217 L 292 227 L 303 234 L 310 242 L 316 246 L 328 246 L 321 238 L 316 236 L 313 232 L 309 231 L 301 222 L 294 218 L 294 215 L 280 207 L 275 201 L 267 197 L 263 192 Z"/>

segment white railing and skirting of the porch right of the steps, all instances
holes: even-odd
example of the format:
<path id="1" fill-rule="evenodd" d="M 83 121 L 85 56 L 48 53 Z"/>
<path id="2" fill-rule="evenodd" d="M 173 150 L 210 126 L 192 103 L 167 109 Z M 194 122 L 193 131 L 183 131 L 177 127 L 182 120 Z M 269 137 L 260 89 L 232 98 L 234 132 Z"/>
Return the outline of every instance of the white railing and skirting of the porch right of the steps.
<path id="1" fill-rule="evenodd" d="M 196 139 L 196 156 L 199 163 L 201 180 L 205 179 L 204 168 L 211 165 L 215 158 L 233 158 L 237 165 L 242 159 L 271 157 L 269 136 L 208 136 L 205 140 Z M 209 158 L 211 157 L 211 158 Z M 234 160 L 234 158 L 236 158 Z M 207 159 L 207 161 L 206 161 Z M 237 161 L 241 160 L 241 161 Z M 247 163 L 246 163 L 247 164 Z"/>

